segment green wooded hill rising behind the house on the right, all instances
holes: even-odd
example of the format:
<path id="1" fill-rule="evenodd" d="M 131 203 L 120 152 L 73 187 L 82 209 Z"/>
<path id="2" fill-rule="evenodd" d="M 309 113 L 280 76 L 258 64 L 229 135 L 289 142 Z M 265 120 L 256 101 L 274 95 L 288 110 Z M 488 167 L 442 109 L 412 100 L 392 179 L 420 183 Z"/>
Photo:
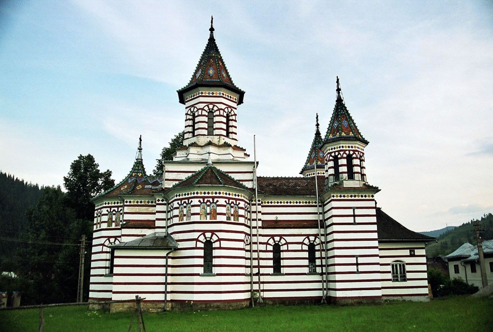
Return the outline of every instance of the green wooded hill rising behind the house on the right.
<path id="1" fill-rule="evenodd" d="M 483 229 L 483 240 L 493 239 L 493 215 L 491 213 L 484 215 L 479 220 Z M 476 245 L 476 235 L 473 232 L 474 220 L 463 223 L 452 230 L 449 230 L 436 238 L 435 242 L 426 245 L 426 256 L 436 257 L 445 256 L 456 250 L 464 242 Z"/>

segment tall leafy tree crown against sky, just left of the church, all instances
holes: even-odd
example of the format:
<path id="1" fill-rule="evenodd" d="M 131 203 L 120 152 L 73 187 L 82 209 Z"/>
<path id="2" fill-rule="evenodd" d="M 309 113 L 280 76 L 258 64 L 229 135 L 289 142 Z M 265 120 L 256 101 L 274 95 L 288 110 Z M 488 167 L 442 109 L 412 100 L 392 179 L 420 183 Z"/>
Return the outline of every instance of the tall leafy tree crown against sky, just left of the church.
<path id="1" fill-rule="evenodd" d="M 94 219 L 91 198 L 115 185 L 111 171 L 101 172 L 91 154 L 79 155 L 63 179 L 67 189 L 67 205 L 75 210 L 77 218 L 91 221 Z"/>

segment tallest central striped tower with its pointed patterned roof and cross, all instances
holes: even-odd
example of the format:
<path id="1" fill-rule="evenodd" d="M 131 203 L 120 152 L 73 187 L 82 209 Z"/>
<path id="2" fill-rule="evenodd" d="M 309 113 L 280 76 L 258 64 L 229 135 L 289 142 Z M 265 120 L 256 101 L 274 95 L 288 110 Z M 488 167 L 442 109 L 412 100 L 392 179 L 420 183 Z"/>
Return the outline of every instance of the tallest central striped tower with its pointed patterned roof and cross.
<path id="1" fill-rule="evenodd" d="M 188 84 L 177 91 L 185 105 L 185 136 L 174 160 L 243 160 L 248 157 L 238 146 L 237 107 L 245 92 L 238 88 L 221 57 L 209 29 L 209 40 Z"/>

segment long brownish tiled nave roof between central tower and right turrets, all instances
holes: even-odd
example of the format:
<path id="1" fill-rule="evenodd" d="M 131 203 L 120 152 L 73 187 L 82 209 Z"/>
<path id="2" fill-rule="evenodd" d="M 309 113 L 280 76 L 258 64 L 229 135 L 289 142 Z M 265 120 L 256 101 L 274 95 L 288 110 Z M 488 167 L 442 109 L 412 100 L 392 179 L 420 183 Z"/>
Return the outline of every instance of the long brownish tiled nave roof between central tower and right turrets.
<path id="1" fill-rule="evenodd" d="M 318 194 L 322 194 L 325 185 L 323 176 L 317 177 Z M 258 190 L 272 196 L 315 196 L 315 179 L 258 177 Z"/>

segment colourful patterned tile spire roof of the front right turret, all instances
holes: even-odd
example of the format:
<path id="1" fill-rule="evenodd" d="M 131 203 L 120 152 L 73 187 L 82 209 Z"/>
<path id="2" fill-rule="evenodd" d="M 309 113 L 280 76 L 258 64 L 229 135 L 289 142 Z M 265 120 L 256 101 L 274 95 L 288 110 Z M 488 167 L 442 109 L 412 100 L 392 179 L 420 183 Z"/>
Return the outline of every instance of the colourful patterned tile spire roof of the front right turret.
<path id="1" fill-rule="evenodd" d="M 330 119 L 329 127 L 323 143 L 334 141 L 359 141 L 363 144 L 368 144 L 368 141 L 361 135 L 356 123 L 352 119 L 344 100 L 341 96 L 341 87 L 339 85 L 339 77 L 337 77 L 337 99 L 332 118 Z"/>

